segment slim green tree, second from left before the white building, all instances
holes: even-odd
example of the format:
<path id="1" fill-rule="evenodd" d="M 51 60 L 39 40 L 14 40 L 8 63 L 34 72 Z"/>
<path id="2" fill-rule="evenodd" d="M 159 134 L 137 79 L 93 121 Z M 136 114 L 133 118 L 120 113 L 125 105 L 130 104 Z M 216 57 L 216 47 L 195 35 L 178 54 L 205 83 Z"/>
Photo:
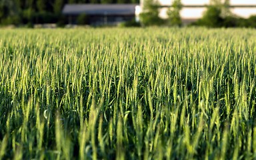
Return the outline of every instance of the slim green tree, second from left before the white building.
<path id="1" fill-rule="evenodd" d="M 181 0 L 174 0 L 172 6 L 167 11 L 169 23 L 171 26 L 181 26 L 181 16 L 179 15 L 179 12 L 182 9 L 182 3 Z"/>

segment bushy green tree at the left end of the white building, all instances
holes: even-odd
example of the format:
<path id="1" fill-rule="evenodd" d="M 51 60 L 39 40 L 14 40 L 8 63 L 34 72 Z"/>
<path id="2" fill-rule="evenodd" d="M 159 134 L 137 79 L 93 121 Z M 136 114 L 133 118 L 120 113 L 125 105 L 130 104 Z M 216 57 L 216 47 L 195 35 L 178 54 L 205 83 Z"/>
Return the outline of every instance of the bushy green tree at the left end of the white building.
<path id="1" fill-rule="evenodd" d="M 163 24 L 163 19 L 159 17 L 158 3 L 153 0 L 145 0 L 143 12 L 139 15 L 139 21 L 143 26 Z"/>

